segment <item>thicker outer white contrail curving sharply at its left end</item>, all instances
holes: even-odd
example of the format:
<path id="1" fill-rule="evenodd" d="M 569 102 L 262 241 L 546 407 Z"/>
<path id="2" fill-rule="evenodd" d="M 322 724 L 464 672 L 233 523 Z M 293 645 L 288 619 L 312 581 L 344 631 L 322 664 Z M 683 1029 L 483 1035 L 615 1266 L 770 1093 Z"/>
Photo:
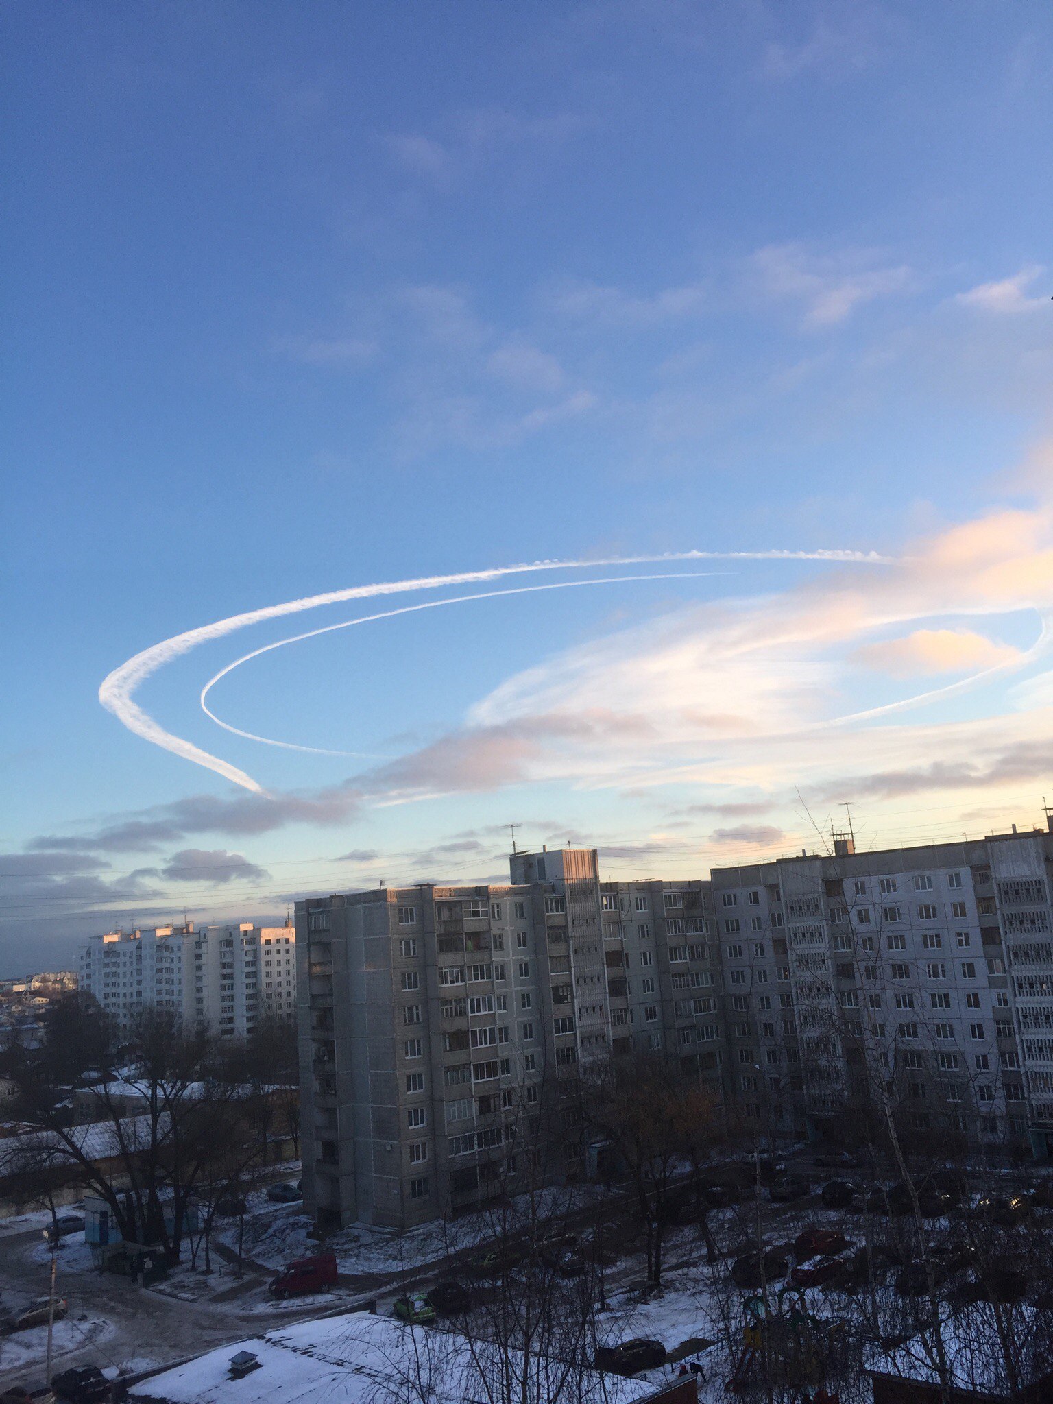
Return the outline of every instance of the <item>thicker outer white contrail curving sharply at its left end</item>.
<path id="1" fill-rule="evenodd" d="M 201 625 L 197 629 L 187 629 L 185 633 L 173 635 L 160 643 L 143 649 L 122 663 L 112 673 L 108 673 L 98 689 L 98 701 L 112 712 L 114 716 L 145 741 L 152 741 L 174 755 L 181 755 L 185 761 L 202 765 L 208 771 L 215 771 L 225 779 L 233 781 L 256 795 L 265 790 L 251 775 L 246 775 L 236 765 L 222 760 L 209 751 L 201 750 L 192 741 L 171 731 L 166 731 L 152 716 L 133 701 L 136 689 L 166 663 L 190 653 L 199 643 L 209 643 L 212 639 L 222 639 L 237 629 L 246 629 L 253 623 L 263 623 L 267 619 L 279 619 L 284 615 L 302 614 L 305 609 L 317 609 L 322 605 L 343 604 L 347 600 L 369 600 L 375 595 L 406 594 L 413 590 L 441 590 L 444 585 L 468 585 L 476 581 L 500 580 L 504 576 L 531 574 L 539 570 L 592 570 L 600 566 L 644 566 L 673 560 L 821 560 L 827 563 L 851 562 L 854 564 L 890 564 L 893 557 L 880 556 L 878 552 L 863 550 L 674 550 L 653 556 L 608 556 L 595 560 L 536 560 L 531 564 L 493 566 L 490 570 L 465 570 L 449 576 L 423 576 L 416 580 L 389 580 L 369 585 L 351 585 L 347 590 L 331 590 L 320 595 L 305 595 L 300 600 L 286 600 L 279 605 L 267 605 L 263 609 L 249 609 L 244 614 L 230 615 L 226 619 L 216 619 L 215 623 Z"/>

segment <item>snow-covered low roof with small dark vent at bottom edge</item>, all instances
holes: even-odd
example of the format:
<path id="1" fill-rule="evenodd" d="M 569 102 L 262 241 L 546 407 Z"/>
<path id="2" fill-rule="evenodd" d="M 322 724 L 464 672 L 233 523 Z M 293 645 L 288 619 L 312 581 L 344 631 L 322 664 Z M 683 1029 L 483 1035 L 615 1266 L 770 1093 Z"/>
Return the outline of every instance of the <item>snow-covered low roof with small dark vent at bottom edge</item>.
<path id="1" fill-rule="evenodd" d="M 230 1360 L 240 1351 L 260 1367 L 230 1379 Z M 177 1365 L 132 1387 L 133 1400 L 168 1404 L 473 1404 L 501 1397 L 484 1380 L 500 1376 L 505 1352 L 475 1342 L 473 1359 L 463 1337 L 406 1327 L 390 1317 L 351 1313 L 299 1321 L 247 1341 L 234 1341 Z M 510 1352 L 514 1362 L 515 1352 Z M 477 1362 L 477 1363 L 476 1363 Z M 654 1396 L 643 1380 L 587 1372 L 583 1379 L 566 1366 L 539 1362 L 545 1382 L 531 1390 L 549 1404 L 635 1404 Z"/>

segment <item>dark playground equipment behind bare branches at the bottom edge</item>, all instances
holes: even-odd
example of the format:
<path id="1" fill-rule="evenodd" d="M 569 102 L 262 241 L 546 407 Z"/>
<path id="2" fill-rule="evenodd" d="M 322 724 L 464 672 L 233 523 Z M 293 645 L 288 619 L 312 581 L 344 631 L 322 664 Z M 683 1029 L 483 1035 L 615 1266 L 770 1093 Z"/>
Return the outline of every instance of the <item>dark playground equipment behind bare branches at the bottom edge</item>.
<path id="1" fill-rule="evenodd" d="M 786 1285 L 769 1302 L 755 1293 L 743 1302 L 743 1349 L 727 1389 L 741 1394 L 761 1375 L 790 1389 L 800 1387 L 802 1404 L 838 1404 L 823 1384 L 827 1366 L 844 1338 L 840 1321 L 824 1321 L 807 1310 L 800 1287 Z M 804 1386 L 814 1386 L 807 1396 Z M 821 1397 L 820 1397 L 821 1396 Z"/>

